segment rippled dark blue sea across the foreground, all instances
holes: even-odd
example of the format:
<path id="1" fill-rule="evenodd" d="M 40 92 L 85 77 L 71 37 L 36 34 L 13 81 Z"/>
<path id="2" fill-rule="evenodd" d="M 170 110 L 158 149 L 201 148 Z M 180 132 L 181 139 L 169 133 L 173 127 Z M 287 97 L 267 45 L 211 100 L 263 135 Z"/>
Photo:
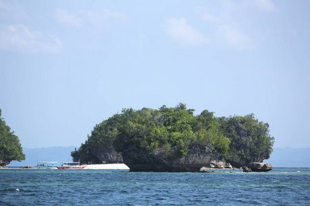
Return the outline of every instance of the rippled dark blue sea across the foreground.
<path id="1" fill-rule="evenodd" d="M 310 205 L 310 168 L 0 170 L 0 205 Z"/>

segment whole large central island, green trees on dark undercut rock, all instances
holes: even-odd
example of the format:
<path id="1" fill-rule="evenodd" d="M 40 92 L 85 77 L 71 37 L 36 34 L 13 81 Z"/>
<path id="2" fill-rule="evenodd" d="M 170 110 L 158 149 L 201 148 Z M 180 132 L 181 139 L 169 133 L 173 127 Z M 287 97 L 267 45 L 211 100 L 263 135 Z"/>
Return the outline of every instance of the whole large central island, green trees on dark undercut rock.
<path id="1" fill-rule="evenodd" d="M 266 172 L 265 166 L 255 169 L 251 163 L 268 159 L 273 142 L 269 124 L 253 114 L 214 117 L 205 110 L 194 115 L 180 103 L 158 110 L 123 109 L 94 126 L 71 155 L 81 163 L 125 163 L 132 172 L 198 172 L 203 167 Z"/>

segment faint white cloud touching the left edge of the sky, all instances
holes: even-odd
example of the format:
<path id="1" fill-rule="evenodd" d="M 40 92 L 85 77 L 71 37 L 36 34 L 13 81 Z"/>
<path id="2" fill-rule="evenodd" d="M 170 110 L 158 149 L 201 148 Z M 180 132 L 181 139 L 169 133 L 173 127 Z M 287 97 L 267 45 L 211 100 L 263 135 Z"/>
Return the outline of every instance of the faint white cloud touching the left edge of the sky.
<path id="1" fill-rule="evenodd" d="M 62 49 L 58 38 L 30 30 L 26 25 L 1 25 L 0 49 L 25 53 L 56 53 Z"/>

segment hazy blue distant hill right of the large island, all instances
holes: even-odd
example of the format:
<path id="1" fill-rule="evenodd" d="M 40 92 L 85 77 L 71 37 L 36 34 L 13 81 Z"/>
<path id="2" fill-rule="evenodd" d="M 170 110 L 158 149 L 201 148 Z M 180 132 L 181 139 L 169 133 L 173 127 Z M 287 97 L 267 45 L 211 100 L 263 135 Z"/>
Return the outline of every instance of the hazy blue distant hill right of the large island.
<path id="1" fill-rule="evenodd" d="M 264 162 L 273 167 L 310 168 L 310 148 L 273 148 Z"/>

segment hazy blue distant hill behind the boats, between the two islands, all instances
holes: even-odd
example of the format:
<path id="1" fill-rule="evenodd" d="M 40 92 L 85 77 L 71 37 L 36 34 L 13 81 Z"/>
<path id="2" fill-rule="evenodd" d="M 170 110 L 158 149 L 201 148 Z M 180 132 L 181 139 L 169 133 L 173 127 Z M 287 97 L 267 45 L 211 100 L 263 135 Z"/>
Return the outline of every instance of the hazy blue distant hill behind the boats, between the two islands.
<path id="1" fill-rule="evenodd" d="M 37 165 L 38 161 L 58 161 L 59 164 L 63 161 L 72 161 L 71 151 L 76 146 L 70 147 L 51 147 L 51 148 L 23 148 L 25 154 L 24 161 L 12 161 L 8 167 L 20 167 L 25 165 Z"/>

